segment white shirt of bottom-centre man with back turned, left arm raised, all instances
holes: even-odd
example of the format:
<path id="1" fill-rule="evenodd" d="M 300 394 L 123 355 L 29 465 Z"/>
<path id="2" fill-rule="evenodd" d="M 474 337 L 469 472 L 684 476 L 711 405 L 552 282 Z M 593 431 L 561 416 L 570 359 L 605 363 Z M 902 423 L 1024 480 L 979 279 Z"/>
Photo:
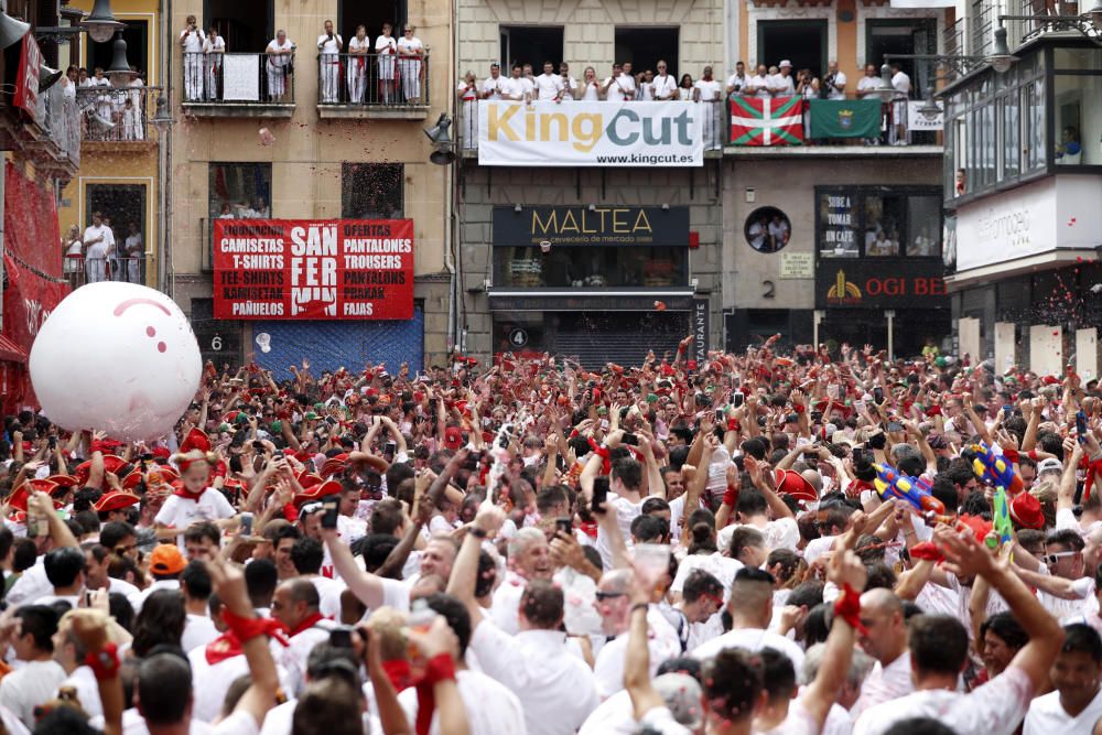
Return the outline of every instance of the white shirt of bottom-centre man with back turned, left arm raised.
<path id="1" fill-rule="evenodd" d="M 596 682 L 585 661 L 555 630 L 509 636 L 483 623 L 471 637 L 483 673 L 520 700 L 529 735 L 569 735 L 598 704 Z"/>

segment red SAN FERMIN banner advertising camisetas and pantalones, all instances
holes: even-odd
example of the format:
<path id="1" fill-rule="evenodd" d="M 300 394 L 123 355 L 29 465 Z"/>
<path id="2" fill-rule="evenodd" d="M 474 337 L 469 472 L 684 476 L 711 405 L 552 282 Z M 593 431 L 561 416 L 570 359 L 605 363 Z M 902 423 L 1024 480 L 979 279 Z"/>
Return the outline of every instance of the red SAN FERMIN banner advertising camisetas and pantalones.
<path id="1" fill-rule="evenodd" d="M 214 316 L 413 318 L 412 219 L 216 219 Z"/>

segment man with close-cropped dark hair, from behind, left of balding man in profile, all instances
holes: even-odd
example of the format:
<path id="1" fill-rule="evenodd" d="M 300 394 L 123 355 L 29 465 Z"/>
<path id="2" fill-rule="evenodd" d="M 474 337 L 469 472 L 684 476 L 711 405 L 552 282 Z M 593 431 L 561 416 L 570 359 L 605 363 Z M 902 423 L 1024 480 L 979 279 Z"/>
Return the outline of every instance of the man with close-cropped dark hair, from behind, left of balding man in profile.
<path id="1" fill-rule="evenodd" d="M 790 658 L 797 671 L 802 669 L 803 650 L 796 641 L 768 630 L 773 618 L 773 585 L 774 577 L 768 572 L 750 568 L 738 570 L 727 602 L 731 630 L 694 649 L 692 657 L 704 660 L 727 648 L 750 651 L 773 648 Z"/>

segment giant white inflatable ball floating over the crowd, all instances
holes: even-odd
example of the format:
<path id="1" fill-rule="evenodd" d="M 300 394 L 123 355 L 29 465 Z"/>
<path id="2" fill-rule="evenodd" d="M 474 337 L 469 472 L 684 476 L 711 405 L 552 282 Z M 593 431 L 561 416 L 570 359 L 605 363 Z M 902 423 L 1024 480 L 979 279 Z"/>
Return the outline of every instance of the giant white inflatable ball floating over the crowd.
<path id="1" fill-rule="evenodd" d="M 172 299 L 105 281 L 66 296 L 31 347 L 42 412 L 69 431 L 148 440 L 170 431 L 199 386 L 199 347 Z"/>

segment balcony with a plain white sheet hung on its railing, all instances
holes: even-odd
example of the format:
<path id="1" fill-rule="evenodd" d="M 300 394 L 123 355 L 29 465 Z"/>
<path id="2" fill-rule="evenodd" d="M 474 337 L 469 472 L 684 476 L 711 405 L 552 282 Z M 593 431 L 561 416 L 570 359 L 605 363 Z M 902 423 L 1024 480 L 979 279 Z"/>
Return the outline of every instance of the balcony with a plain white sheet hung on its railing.
<path id="1" fill-rule="evenodd" d="M 194 117 L 289 118 L 294 114 L 295 54 L 188 52 L 184 114 Z"/>

